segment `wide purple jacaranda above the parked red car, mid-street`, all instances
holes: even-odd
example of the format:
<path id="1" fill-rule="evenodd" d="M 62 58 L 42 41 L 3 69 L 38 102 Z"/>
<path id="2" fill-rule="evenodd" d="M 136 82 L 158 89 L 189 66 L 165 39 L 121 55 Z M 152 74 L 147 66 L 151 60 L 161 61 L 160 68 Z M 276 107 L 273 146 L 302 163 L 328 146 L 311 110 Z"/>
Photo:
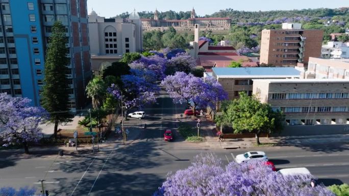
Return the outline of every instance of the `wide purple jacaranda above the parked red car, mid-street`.
<path id="1" fill-rule="evenodd" d="M 228 97 L 221 85 L 214 79 L 204 80 L 184 72 L 176 72 L 174 75 L 167 76 L 161 85 L 166 88 L 174 103 L 187 103 L 193 111 L 196 106 L 214 106 L 218 101 Z"/>

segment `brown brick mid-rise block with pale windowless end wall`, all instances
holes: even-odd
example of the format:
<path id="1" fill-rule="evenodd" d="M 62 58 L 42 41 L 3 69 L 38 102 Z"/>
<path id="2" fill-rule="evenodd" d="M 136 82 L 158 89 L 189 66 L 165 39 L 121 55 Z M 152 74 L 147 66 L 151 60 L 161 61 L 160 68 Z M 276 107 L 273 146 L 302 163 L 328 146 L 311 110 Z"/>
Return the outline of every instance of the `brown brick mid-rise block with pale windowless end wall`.
<path id="1" fill-rule="evenodd" d="M 263 30 L 260 63 L 274 66 L 307 64 L 321 56 L 322 30 L 302 30 L 300 23 L 283 23 L 281 30 Z"/>

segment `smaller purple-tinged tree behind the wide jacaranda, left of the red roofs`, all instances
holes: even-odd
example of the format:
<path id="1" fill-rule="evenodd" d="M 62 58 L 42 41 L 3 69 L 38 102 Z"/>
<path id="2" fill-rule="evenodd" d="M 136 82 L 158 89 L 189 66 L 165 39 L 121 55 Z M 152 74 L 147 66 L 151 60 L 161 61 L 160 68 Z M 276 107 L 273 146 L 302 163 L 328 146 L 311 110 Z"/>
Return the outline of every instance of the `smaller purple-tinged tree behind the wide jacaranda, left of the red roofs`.
<path id="1" fill-rule="evenodd" d="M 176 57 L 172 57 L 167 61 L 167 74 L 173 74 L 174 72 L 190 73 L 196 66 L 196 61 L 188 53 L 182 52 L 176 54 Z M 168 71 L 169 70 L 169 71 Z"/>

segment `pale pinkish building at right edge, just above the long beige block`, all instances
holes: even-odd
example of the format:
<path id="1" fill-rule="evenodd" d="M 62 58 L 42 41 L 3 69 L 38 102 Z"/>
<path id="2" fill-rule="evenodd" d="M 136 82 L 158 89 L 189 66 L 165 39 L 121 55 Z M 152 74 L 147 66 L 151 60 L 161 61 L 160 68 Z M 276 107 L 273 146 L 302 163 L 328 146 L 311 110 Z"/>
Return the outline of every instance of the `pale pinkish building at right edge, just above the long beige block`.
<path id="1" fill-rule="evenodd" d="M 349 59 L 309 58 L 304 78 L 349 79 Z"/>

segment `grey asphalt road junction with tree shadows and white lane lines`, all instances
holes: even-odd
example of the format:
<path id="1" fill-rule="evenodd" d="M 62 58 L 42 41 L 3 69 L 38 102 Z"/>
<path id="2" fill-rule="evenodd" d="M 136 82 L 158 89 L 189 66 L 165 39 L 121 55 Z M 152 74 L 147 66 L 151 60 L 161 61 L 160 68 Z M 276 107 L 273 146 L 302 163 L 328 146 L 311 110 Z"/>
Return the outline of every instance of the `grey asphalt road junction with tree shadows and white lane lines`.
<path id="1" fill-rule="evenodd" d="M 202 144 L 181 142 L 176 132 L 176 118 L 184 106 L 174 105 L 166 94 L 158 104 L 144 109 L 144 121 L 131 119 L 134 124 L 146 123 L 138 139 L 128 146 L 116 144 L 113 148 L 92 155 L 58 157 L 55 152 L 36 154 L 29 158 L 11 153 L 0 153 L 0 187 L 41 185 L 51 195 L 152 195 L 166 179 L 168 172 L 184 169 L 200 153 L 214 153 L 223 164 L 234 161 L 246 149 L 209 149 Z M 174 142 L 164 142 L 166 129 L 174 131 Z M 349 147 L 337 144 L 301 147 L 264 147 L 250 150 L 265 151 L 277 169 L 306 166 L 320 182 L 349 183 Z"/>

